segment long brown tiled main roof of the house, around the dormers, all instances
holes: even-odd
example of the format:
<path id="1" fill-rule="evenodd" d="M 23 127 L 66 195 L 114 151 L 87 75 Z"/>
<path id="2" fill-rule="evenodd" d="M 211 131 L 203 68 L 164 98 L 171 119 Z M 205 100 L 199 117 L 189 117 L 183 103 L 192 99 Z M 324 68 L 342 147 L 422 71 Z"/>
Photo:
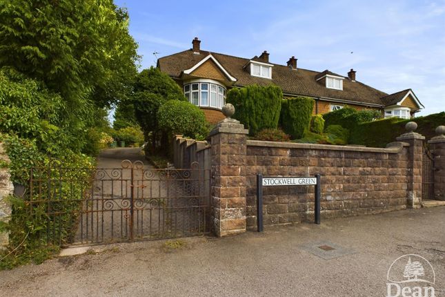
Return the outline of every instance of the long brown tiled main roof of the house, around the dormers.
<path id="1" fill-rule="evenodd" d="M 233 57 L 219 54 L 217 52 L 200 51 L 200 55 L 193 54 L 192 50 L 184 50 L 174 55 L 158 59 L 158 67 L 171 77 L 179 78 L 183 70 L 192 68 L 201 59 L 212 54 L 217 61 L 237 79 L 235 86 L 247 86 L 250 84 L 268 85 L 277 84 L 285 95 L 306 95 L 310 97 L 322 97 L 327 99 L 339 99 L 362 104 L 378 104 L 383 106 L 382 97 L 388 94 L 376 90 L 361 82 L 351 82 L 348 78 L 343 81 L 343 90 L 326 88 L 321 82 L 317 82 L 317 75 L 320 73 L 313 70 L 298 68 L 292 69 L 288 66 L 273 64 L 272 79 L 254 77 L 250 75 L 248 69 L 243 68 L 250 59 Z M 325 70 L 326 73 L 342 77 Z"/>

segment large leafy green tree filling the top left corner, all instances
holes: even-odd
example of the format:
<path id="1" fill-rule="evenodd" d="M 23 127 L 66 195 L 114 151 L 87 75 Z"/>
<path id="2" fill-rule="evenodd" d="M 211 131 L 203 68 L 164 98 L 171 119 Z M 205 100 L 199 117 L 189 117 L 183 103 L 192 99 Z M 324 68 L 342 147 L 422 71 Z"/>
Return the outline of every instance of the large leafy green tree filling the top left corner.
<path id="1" fill-rule="evenodd" d="M 128 13 L 112 0 L 1 1 L 0 40 L 0 66 L 60 93 L 73 117 L 86 113 L 88 98 L 117 102 L 137 73 Z"/>

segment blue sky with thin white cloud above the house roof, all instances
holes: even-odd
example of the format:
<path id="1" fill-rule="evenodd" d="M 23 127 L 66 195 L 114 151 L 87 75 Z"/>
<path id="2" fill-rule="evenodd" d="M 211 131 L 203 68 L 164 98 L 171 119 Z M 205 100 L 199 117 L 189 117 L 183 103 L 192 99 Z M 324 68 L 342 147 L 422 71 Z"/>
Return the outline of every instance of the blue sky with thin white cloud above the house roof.
<path id="1" fill-rule="evenodd" d="M 250 58 L 329 69 L 394 93 L 412 88 L 426 106 L 445 111 L 445 0 L 440 1 L 136 1 L 117 0 L 130 13 L 141 67 L 157 57 L 201 48 Z M 352 52 L 352 53 L 351 53 Z"/>

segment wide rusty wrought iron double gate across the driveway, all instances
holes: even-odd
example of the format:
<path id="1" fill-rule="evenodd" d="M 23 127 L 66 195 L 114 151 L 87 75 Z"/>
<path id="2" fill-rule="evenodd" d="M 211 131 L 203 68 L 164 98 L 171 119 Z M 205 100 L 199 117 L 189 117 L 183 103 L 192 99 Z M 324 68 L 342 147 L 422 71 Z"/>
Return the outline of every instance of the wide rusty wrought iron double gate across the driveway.
<path id="1" fill-rule="evenodd" d="M 92 182 L 78 184 L 79 175 Z M 63 178 L 62 178 L 63 177 Z M 85 179 L 84 179 L 85 180 Z M 48 244 L 76 245 L 195 236 L 210 232 L 210 172 L 146 169 L 32 169 L 26 206 L 46 220 Z"/>

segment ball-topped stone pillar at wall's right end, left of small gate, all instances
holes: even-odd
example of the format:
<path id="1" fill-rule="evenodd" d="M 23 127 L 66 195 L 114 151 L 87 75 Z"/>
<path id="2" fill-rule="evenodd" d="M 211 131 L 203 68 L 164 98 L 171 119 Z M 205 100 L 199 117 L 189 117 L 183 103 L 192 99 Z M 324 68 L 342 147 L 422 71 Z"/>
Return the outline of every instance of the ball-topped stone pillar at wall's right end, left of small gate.
<path id="1" fill-rule="evenodd" d="M 418 209 L 422 203 L 422 166 L 424 157 L 425 137 L 415 133 L 417 124 L 408 122 L 405 125 L 406 133 L 396 138 L 398 142 L 407 142 L 408 148 L 408 198 L 406 207 Z"/>

